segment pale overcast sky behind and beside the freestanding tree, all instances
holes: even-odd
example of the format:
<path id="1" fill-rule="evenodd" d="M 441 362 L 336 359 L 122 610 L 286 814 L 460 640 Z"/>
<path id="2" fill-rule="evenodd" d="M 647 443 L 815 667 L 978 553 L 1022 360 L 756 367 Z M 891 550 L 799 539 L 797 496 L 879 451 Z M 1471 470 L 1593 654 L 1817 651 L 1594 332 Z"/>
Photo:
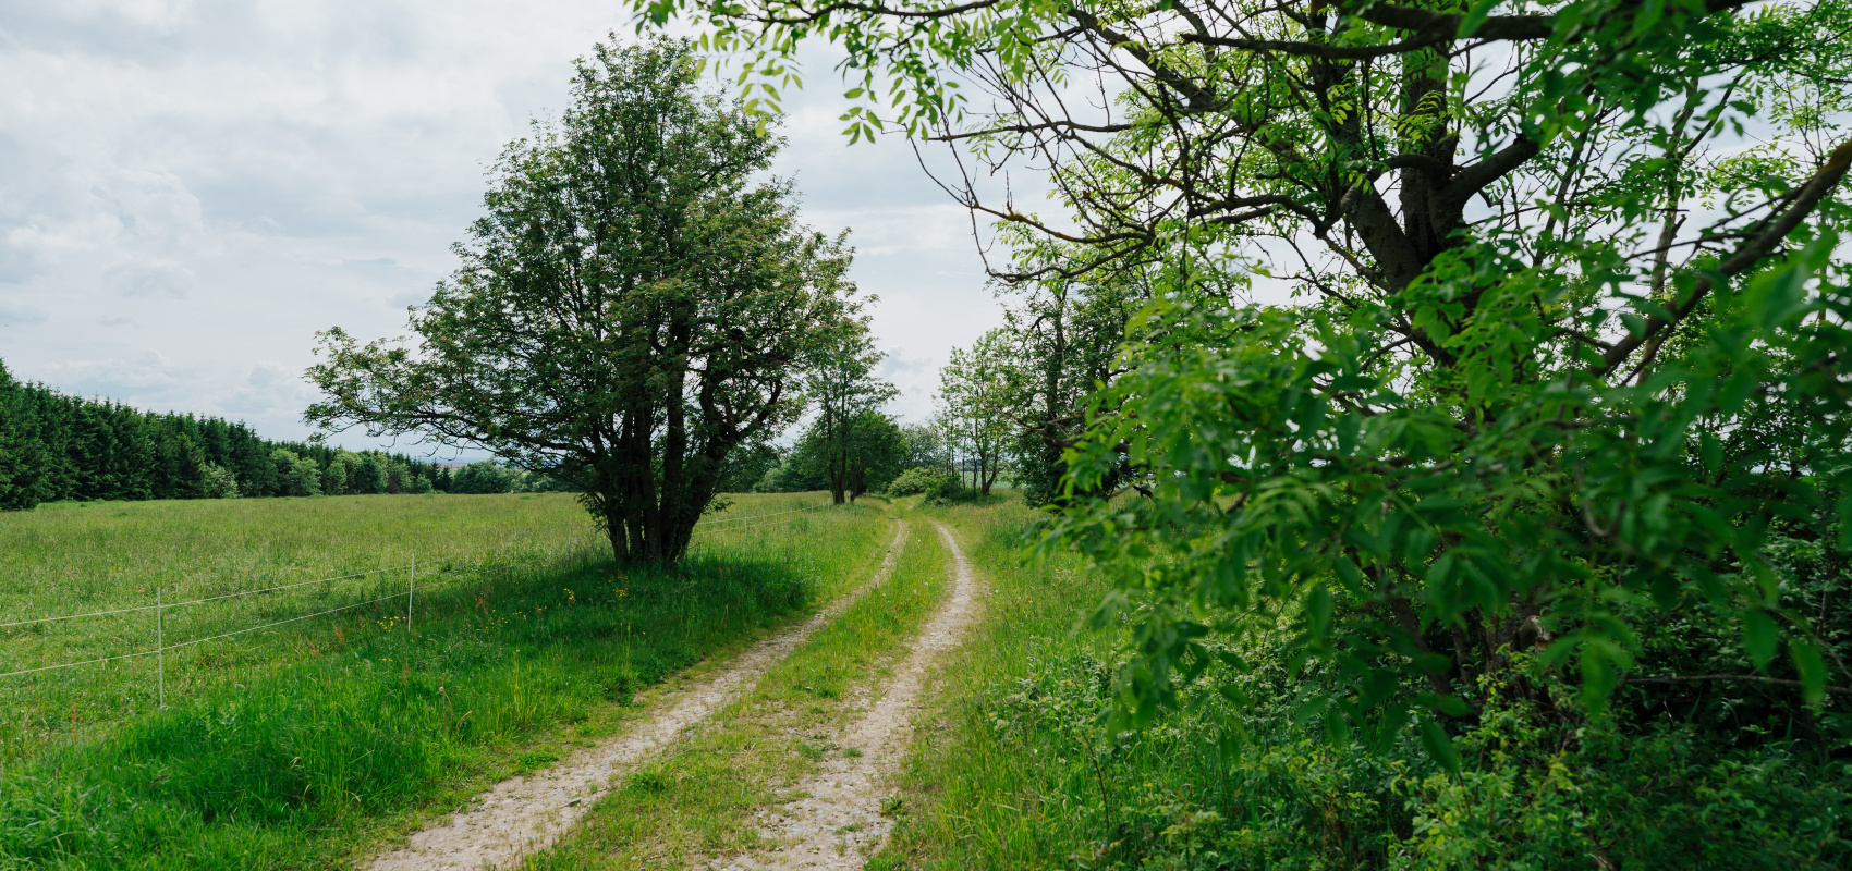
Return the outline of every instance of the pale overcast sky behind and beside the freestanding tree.
<path id="1" fill-rule="evenodd" d="M 0 359 L 15 377 L 300 438 L 313 333 L 398 335 L 483 166 L 632 33 L 598 0 L 0 4 Z M 848 146 L 824 57 L 778 172 L 854 229 L 891 411 L 920 420 L 998 305 L 904 141 Z M 341 442 L 370 446 L 363 436 Z"/>

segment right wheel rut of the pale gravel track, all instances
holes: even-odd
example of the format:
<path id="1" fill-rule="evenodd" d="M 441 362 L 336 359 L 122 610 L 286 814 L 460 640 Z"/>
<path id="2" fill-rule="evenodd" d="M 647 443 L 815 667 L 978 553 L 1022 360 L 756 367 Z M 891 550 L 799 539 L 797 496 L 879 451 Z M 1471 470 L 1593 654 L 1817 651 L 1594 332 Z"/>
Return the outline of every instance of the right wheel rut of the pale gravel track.
<path id="1" fill-rule="evenodd" d="M 843 734 L 841 745 L 861 751 L 861 756 L 832 756 L 822 771 L 793 790 L 800 799 L 761 819 L 759 834 L 782 847 L 767 854 L 713 862 L 711 867 L 852 871 L 867 864 L 869 854 L 887 838 L 893 827 L 893 819 L 882 814 L 887 780 L 898 771 L 913 740 L 913 714 L 928 690 L 933 664 L 963 642 L 978 616 L 980 590 L 965 551 L 957 547 L 950 529 L 939 521 L 933 525 L 939 527 L 957 571 L 952 599 L 920 631 L 874 706 Z"/>

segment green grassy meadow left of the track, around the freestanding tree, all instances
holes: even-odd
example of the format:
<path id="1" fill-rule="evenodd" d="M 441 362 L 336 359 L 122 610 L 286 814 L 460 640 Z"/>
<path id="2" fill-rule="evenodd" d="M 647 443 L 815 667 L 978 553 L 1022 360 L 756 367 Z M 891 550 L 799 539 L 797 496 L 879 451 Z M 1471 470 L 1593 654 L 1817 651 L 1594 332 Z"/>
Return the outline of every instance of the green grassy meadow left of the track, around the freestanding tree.
<path id="1" fill-rule="evenodd" d="M 0 621 L 152 605 L 156 586 L 172 603 L 385 570 L 163 608 L 174 645 L 385 601 L 172 651 L 165 710 L 156 656 L 0 679 L 0 867 L 350 862 L 607 734 L 622 703 L 670 669 L 865 577 L 891 521 L 822 503 L 737 497 L 672 573 L 619 571 L 559 494 L 4 516 Z M 0 629 L 0 671 L 144 651 L 150 618 Z"/>

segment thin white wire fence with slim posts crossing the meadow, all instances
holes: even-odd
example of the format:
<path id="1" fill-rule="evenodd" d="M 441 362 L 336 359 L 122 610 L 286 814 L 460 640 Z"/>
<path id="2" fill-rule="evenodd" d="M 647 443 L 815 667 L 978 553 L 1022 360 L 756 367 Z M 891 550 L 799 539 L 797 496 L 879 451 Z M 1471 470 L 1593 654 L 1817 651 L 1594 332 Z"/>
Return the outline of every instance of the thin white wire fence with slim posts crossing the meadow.
<path id="1" fill-rule="evenodd" d="M 833 503 L 826 501 L 826 503 L 817 503 L 817 505 L 806 505 L 802 509 L 774 510 L 774 512 L 752 514 L 752 516 L 745 516 L 745 518 L 726 518 L 726 520 L 707 521 L 707 523 L 700 523 L 694 529 L 694 533 L 707 533 L 707 531 L 715 531 L 715 533 L 739 533 L 739 531 L 746 531 L 746 529 L 756 529 L 756 527 L 765 527 L 765 525 L 778 523 L 776 520 L 765 520 L 765 518 L 782 518 L 782 516 L 787 516 L 787 514 L 800 514 L 800 512 L 826 509 L 830 505 L 833 505 Z M 502 562 L 502 564 L 493 564 L 493 566 L 470 566 L 470 568 L 476 570 L 476 571 L 498 571 L 498 570 L 511 570 L 511 568 L 515 568 L 519 564 L 520 562 Z M 250 627 L 244 627 L 244 629 L 233 629 L 230 632 L 215 632 L 215 634 L 207 634 L 207 636 L 200 636 L 200 638 L 191 638 L 191 640 L 185 640 L 185 642 L 167 644 L 167 618 L 176 608 L 191 608 L 191 607 L 196 607 L 196 605 L 219 603 L 219 601 L 228 601 L 228 599 L 243 599 L 243 597 L 250 597 L 250 595 L 267 595 L 267 594 L 278 594 L 278 592 L 285 592 L 285 590 L 300 590 L 300 588 L 315 586 L 315 584 L 332 584 L 332 583 L 337 583 L 337 581 L 354 581 L 354 579 L 361 579 L 361 577 L 387 575 L 387 573 L 396 573 L 396 571 L 404 571 L 406 573 L 406 592 L 404 594 L 393 592 L 393 594 L 387 594 L 387 595 L 376 595 L 376 597 L 370 597 L 370 599 L 354 601 L 354 603 L 339 605 L 339 607 L 333 607 L 333 608 L 322 608 L 322 610 L 315 610 L 315 612 L 309 612 L 309 614 L 298 614 L 298 616 L 293 616 L 293 618 L 272 620 L 272 621 L 259 623 L 259 625 L 250 625 Z M 83 614 L 57 614 L 57 616 L 48 616 L 48 618 L 13 620 L 13 621 L 0 623 L 0 629 L 17 629 L 17 627 L 30 627 L 30 625 L 43 625 L 43 623 L 63 623 L 63 621 L 72 621 L 72 620 L 115 618 L 115 616 L 124 616 L 124 614 L 146 614 L 146 612 L 152 612 L 152 616 L 154 616 L 154 642 L 156 642 L 152 649 L 133 651 L 133 653 L 120 653 L 120 655 L 113 655 L 113 656 L 94 656 L 94 658 L 83 658 L 83 660 L 74 660 L 74 662 L 57 662 L 57 664 L 52 664 L 52 666 L 39 666 L 39 668 L 22 668 L 22 669 L 13 669 L 13 671 L 0 671 L 0 679 L 19 677 L 19 675 L 33 675 L 33 673 L 41 673 L 41 671 L 59 671 L 59 669 L 67 669 L 67 668 L 98 666 L 98 664 L 106 664 L 106 662 L 131 660 L 131 658 L 143 658 L 143 656 L 154 656 L 156 658 L 156 693 L 157 693 L 159 705 L 165 706 L 167 705 L 167 655 L 170 651 L 180 651 L 180 649 L 185 649 L 185 647 L 196 647 L 200 644 L 217 642 L 217 640 L 222 640 L 222 638 L 233 638 L 233 636 L 241 636 L 241 634 L 261 632 L 265 629 L 276 629 L 276 627 L 282 627 L 282 625 L 287 625 L 287 623 L 300 623 L 300 621 L 306 621 L 306 620 L 326 618 L 330 614 L 341 614 L 341 612 L 346 612 L 346 610 L 365 608 L 369 605 L 380 605 L 383 601 L 398 599 L 400 595 L 406 597 L 406 629 L 411 631 L 411 625 L 413 625 L 411 621 L 413 621 L 413 616 L 417 612 L 417 595 L 419 595 L 420 590 L 432 590 L 432 588 L 437 588 L 437 586 L 446 586 L 450 583 L 467 581 L 467 579 L 470 579 L 470 577 L 469 575 L 457 575 L 457 577 L 450 577 L 450 579 L 444 579 L 444 581 L 426 583 L 426 584 L 420 586 L 419 584 L 419 560 L 417 560 L 417 555 L 411 555 L 404 566 L 385 566 L 385 568 L 376 568 L 376 570 L 367 570 L 367 571 L 350 571 L 350 573 L 344 573 L 344 575 L 317 577 L 313 581 L 296 581 L 296 583 L 289 583 L 289 584 L 265 586 L 261 590 L 237 590 L 237 592 L 230 592 L 230 594 L 202 595 L 198 599 L 185 599 L 185 601 L 163 601 L 165 590 L 163 590 L 163 586 L 156 586 L 154 588 L 154 603 L 152 605 L 135 605 L 135 607 L 126 607 L 126 608 L 93 610 L 93 612 L 83 612 Z"/>

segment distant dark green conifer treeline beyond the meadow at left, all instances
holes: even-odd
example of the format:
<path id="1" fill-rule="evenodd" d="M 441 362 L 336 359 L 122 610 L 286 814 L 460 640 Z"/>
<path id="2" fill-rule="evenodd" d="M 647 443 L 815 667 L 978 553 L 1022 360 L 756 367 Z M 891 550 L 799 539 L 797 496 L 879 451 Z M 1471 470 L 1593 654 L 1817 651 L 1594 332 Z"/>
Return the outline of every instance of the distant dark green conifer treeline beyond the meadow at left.
<path id="1" fill-rule="evenodd" d="M 530 481 L 532 479 L 532 481 Z M 156 414 L 17 383 L 0 362 L 0 510 L 63 499 L 213 499 L 557 488 L 494 464 L 272 442 L 244 423 Z"/>

